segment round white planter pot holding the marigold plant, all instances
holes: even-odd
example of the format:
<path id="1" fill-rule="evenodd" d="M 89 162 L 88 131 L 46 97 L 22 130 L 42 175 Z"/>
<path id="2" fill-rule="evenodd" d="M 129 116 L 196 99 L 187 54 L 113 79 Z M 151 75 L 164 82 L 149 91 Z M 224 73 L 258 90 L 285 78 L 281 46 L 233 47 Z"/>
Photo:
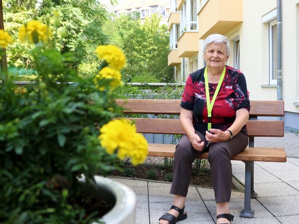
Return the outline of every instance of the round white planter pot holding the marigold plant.
<path id="1" fill-rule="evenodd" d="M 96 188 L 82 185 L 84 195 L 115 201 L 113 209 L 101 219 L 105 224 L 135 224 L 136 195 L 127 186 L 111 179 L 95 176 Z M 84 178 L 79 179 L 84 182 Z M 93 224 L 98 224 L 94 222 Z"/>

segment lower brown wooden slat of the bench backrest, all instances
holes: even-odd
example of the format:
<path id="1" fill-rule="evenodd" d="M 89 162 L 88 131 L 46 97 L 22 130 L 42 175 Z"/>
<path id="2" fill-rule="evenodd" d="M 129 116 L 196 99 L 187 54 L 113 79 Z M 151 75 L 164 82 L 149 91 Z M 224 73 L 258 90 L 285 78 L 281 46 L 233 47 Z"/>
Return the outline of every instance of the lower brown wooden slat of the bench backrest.
<path id="1" fill-rule="evenodd" d="M 132 118 L 137 131 L 153 134 L 184 134 L 179 119 Z M 249 120 L 247 122 L 249 136 L 283 137 L 284 121 L 282 120 Z"/>

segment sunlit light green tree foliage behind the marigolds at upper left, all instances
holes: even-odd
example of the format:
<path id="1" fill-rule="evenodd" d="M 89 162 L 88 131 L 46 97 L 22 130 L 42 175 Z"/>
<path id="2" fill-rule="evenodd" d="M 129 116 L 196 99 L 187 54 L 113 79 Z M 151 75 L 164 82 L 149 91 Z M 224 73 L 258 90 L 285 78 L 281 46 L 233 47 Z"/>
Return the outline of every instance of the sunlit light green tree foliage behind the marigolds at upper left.
<path id="1" fill-rule="evenodd" d="M 45 22 L 45 16 L 53 16 L 53 11 L 61 14 L 61 26 L 67 29 L 67 36 L 59 43 L 55 36 L 60 37 L 59 29 L 54 26 L 54 19 L 50 19 L 50 27 L 53 30 L 53 38 L 49 40 L 49 46 L 62 52 L 70 51 L 74 54 L 71 66 L 75 69 L 81 64 L 85 67 L 82 76 L 91 73 L 88 69 L 99 66 L 94 54 L 91 54 L 96 46 L 105 44 L 107 36 L 102 30 L 102 25 L 107 19 L 107 11 L 104 6 L 95 0 L 5 0 L 3 4 L 3 16 L 5 30 L 13 37 L 14 43 L 7 48 L 8 65 L 22 68 L 35 68 L 34 60 L 27 51 L 29 43 L 20 42 L 17 38 L 19 27 L 28 20 L 36 19 Z"/>

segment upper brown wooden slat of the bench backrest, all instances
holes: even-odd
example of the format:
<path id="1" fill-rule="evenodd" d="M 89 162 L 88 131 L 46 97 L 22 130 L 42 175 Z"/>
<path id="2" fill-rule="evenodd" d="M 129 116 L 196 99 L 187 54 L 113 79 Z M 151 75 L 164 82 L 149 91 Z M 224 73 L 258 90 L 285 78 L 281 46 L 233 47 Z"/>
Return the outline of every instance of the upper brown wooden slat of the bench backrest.
<path id="1" fill-rule="evenodd" d="M 125 113 L 179 114 L 181 100 L 117 100 Z M 284 101 L 250 101 L 250 116 L 283 116 Z"/>

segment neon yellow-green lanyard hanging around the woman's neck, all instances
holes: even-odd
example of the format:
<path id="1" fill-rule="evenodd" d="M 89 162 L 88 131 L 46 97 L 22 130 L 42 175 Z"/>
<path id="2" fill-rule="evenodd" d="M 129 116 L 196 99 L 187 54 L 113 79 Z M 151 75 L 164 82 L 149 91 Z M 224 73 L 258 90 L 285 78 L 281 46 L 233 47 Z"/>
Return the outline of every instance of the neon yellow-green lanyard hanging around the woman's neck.
<path id="1" fill-rule="evenodd" d="M 225 68 L 220 76 L 216 91 L 214 93 L 214 96 L 212 98 L 212 102 L 210 102 L 210 91 L 209 91 L 209 81 L 208 81 L 208 71 L 207 71 L 207 67 L 204 70 L 204 82 L 205 82 L 205 91 L 206 91 L 206 99 L 207 99 L 207 110 L 208 110 L 208 131 L 211 129 L 212 127 L 212 109 L 216 100 L 216 97 L 218 95 L 220 86 L 222 84 L 222 81 L 224 79 L 224 75 L 225 75 Z"/>

